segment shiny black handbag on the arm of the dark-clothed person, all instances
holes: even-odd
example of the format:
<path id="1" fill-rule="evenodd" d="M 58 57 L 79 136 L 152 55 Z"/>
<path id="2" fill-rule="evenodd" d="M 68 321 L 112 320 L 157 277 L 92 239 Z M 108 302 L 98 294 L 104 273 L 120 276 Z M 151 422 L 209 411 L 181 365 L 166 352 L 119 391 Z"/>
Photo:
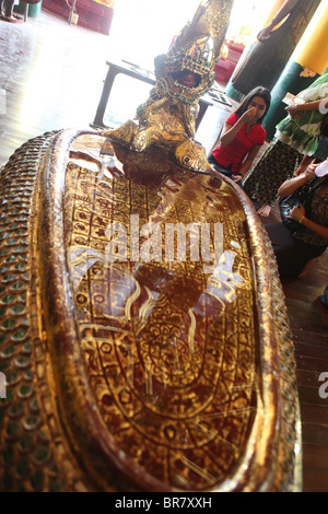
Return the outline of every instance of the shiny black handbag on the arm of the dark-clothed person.
<path id="1" fill-rule="evenodd" d="M 293 207 L 298 207 L 300 203 L 305 209 L 306 218 L 311 218 L 311 205 L 312 199 L 316 189 L 323 185 L 323 183 L 327 179 L 327 176 L 324 177 L 313 177 L 308 183 L 303 184 L 303 186 L 298 187 L 295 191 L 291 192 L 286 197 L 281 197 L 279 200 L 279 209 L 281 221 L 286 229 L 289 229 L 292 233 L 295 232 L 304 232 L 306 226 L 302 225 L 298 221 L 292 220 L 288 218 L 290 214 L 291 209 Z"/>

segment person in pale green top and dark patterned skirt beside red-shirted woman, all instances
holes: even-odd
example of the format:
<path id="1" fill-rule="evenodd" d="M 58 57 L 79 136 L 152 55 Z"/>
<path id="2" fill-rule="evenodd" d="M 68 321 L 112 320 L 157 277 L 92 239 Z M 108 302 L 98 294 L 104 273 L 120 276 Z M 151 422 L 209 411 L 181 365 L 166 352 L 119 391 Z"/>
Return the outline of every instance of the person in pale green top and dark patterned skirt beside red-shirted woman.
<path id="1" fill-rule="evenodd" d="M 323 138 L 328 105 L 328 68 L 286 107 L 289 115 L 276 127 L 276 135 L 261 159 L 243 183 L 244 191 L 260 201 L 259 215 L 268 217 L 278 200 L 281 184 L 306 170 Z"/>

